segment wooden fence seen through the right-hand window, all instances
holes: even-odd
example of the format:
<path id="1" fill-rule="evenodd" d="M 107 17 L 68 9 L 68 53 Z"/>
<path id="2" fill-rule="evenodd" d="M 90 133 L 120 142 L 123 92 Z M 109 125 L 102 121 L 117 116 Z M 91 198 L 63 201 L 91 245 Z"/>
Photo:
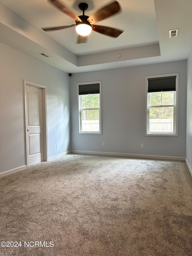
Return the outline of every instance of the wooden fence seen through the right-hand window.
<path id="1" fill-rule="evenodd" d="M 173 132 L 173 118 L 170 119 L 149 119 L 149 131 Z"/>

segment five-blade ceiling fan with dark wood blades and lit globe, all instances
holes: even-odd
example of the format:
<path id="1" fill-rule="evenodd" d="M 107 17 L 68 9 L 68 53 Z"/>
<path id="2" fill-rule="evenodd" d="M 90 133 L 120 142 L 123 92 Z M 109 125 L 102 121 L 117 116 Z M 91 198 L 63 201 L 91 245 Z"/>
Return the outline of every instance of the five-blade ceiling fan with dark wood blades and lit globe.
<path id="1" fill-rule="evenodd" d="M 116 14 L 117 12 L 119 12 L 120 5 L 117 1 L 99 9 L 91 16 L 85 15 L 85 11 L 88 9 L 88 4 L 86 3 L 79 4 L 79 9 L 83 11 L 83 15 L 77 16 L 76 14 L 73 14 L 73 12 L 71 12 L 66 5 L 61 4 L 58 0 L 49 0 L 49 2 L 54 4 L 57 8 L 59 8 L 65 14 L 75 19 L 76 24 L 69 25 L 69 26 L 42 28 L 44 31 L 67 29 L 70 27 L 75 27 L 76 32 L 79 34 L 77 39 L 77 44 L 86 43 L 88 35 L 91 33 L 92 30 L 107 36 L 114 37 L 114 38 L 117 38 L 119 35 L 123 33 L 123 30 L 93 24 L 100 20 L 104 20 L 112 16 L 113 14 Z"/>

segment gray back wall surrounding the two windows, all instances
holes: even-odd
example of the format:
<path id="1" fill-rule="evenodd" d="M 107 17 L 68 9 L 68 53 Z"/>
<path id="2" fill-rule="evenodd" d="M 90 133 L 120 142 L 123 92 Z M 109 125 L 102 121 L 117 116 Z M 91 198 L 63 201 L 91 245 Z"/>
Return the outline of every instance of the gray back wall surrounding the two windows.
<path id="1" fill-rule="evenodd" d="M 179 73 L 179 136 L 145 136 L 145 77 Z M 102 135 L 78 133 L 76 83 L 102 82 Z M 187 61 L 72 74 L 71 149 L 185 157 Z M 102 142 L 106 146 L 102 146 Z M 144 148 L 141 148 L 144 143 Z"/>

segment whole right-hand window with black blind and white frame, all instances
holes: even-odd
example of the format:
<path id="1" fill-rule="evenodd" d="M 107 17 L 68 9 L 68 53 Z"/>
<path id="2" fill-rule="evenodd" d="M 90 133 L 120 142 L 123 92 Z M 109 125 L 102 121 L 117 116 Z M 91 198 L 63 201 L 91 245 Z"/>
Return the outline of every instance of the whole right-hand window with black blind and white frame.
<path id="1" fill-rule="evenodd" d="M 146 77 L 146 136 L 178 136 L 179 74 Z"/>

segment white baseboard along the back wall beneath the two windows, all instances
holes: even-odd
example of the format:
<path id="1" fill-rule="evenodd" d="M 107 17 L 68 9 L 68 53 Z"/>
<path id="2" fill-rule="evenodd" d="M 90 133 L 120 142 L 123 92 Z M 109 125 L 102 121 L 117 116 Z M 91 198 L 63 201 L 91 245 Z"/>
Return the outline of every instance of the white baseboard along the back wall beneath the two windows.
<path id="1" fill-rule="evenodd" d="M 79 150 L 71 150 L 71 153 L 91 154 L 91 155 L 117 155 L 117 156 L 126 156 L 126 157 L 154 158 L 154 159 L 167 159 L 167 160 L 185 161 L 185 157 L 164 156 L 164 155 L 138 155 L 138 154 L 136 155 L 136 154 L 126 154 L 126 153 L 94 152 L 94 151 L 79 151 Z"/>

